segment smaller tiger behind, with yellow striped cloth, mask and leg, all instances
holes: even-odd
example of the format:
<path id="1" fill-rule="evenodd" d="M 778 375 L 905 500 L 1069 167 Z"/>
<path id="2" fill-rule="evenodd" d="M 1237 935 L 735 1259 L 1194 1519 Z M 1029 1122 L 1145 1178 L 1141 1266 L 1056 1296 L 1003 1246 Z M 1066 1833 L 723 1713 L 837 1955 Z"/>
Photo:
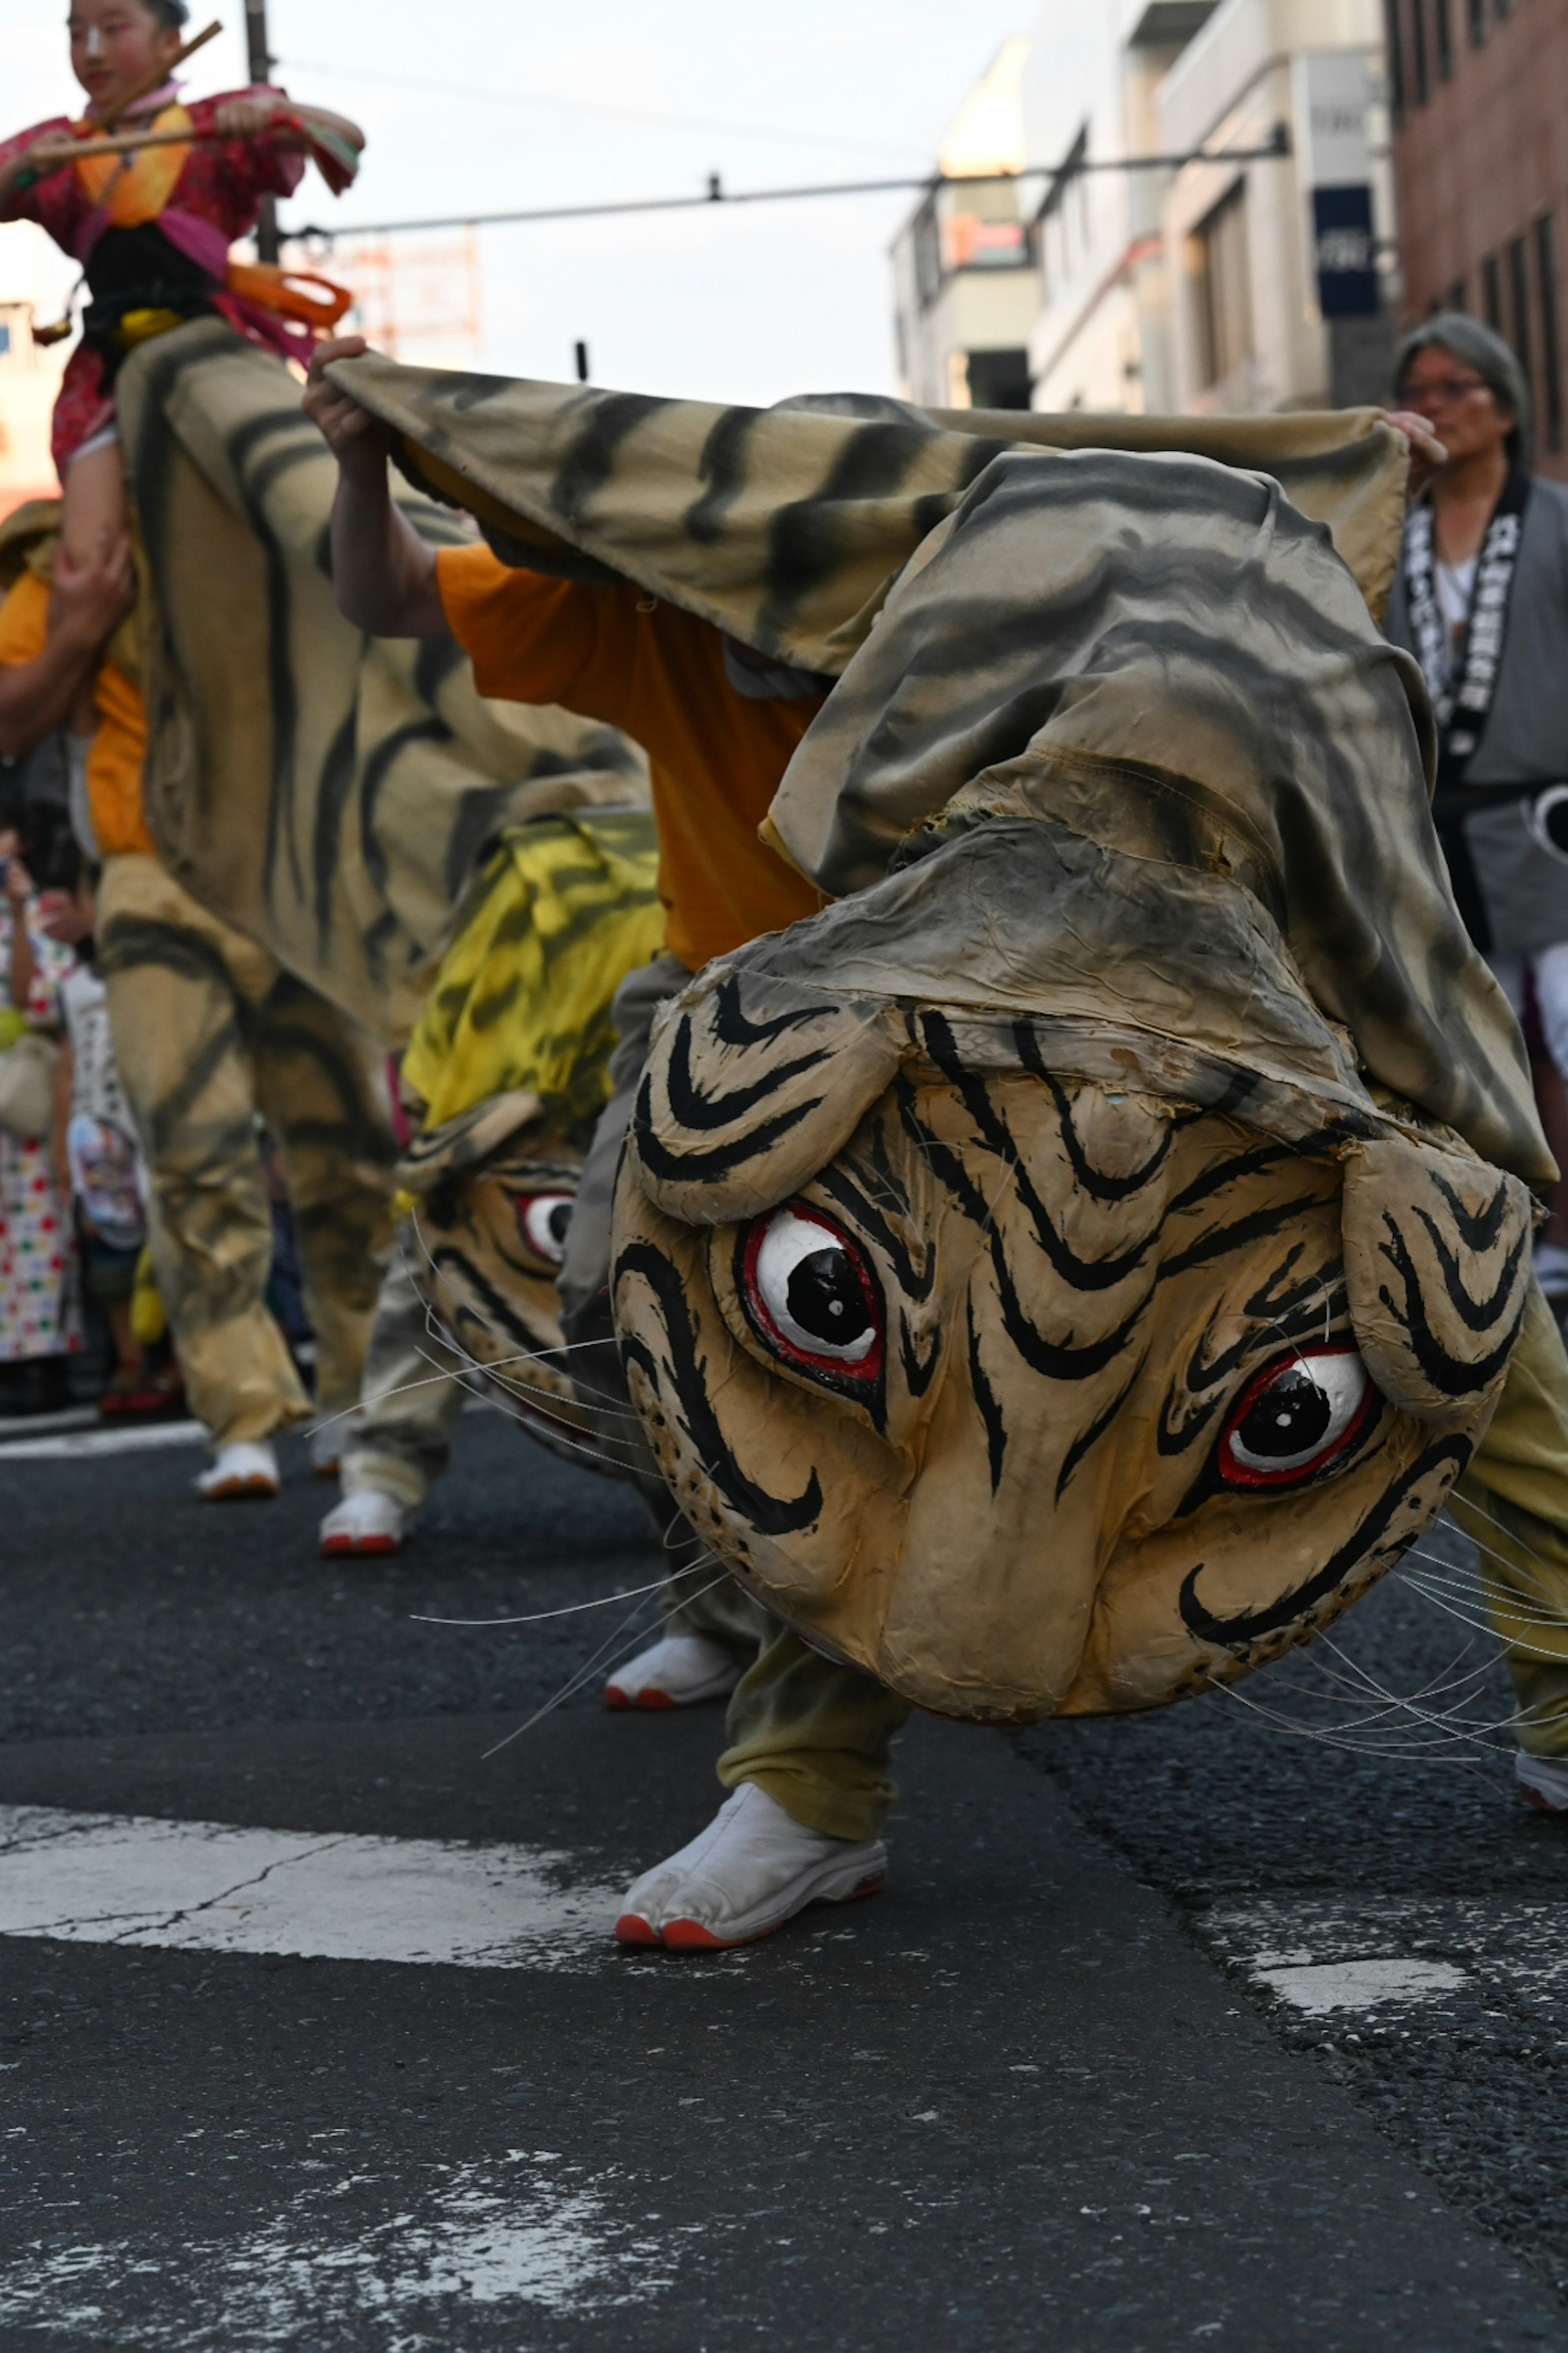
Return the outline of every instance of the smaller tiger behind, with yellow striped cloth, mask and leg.
<path id="1" fill-rule="evenodd" d="M 609 1096 L 609 1007 L 663 941 L 646 809 L 508 828 L 458 911 L 402 1059 L 416 1134 L 343 1492 L 414 1511 L 463 1395 L 609 1468 L 564 1369 L 557 1273 L 583 1144 Z"/>

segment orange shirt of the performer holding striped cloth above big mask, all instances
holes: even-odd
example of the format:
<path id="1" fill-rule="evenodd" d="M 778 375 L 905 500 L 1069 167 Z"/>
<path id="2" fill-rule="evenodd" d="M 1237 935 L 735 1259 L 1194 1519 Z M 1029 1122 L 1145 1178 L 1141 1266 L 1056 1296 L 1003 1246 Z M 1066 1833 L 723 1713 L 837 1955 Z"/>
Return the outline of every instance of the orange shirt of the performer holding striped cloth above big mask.
<path id="1" fill-rule="evenodd" d="M 552 581 L 475 546 L 442 548 L 435 584 L 480 694 L 562 704 L 646 751 L 670 955 L 696 969 L 825 904 L 757 840 L 820 701 L 738 694 L 719 631 L 635 581 Z"/>

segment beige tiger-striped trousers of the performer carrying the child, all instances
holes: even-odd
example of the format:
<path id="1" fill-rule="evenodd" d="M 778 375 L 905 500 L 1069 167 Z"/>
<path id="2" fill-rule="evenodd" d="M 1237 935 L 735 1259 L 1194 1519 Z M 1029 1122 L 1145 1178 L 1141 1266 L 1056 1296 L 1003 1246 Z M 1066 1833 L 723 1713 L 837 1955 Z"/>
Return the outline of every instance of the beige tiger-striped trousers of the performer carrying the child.
<path id="1" fill-rule="evenodd" d="M 390 1247 L 393 1136 L 369 1038 L 148 856 L 106 864 L 99 955 L 193 1412 L 214 1447 L 313 1412 L 263 1306 L 273 1224 L 256 1113 L 287 1174 L 317 1409 L 353 1407 Z"/>

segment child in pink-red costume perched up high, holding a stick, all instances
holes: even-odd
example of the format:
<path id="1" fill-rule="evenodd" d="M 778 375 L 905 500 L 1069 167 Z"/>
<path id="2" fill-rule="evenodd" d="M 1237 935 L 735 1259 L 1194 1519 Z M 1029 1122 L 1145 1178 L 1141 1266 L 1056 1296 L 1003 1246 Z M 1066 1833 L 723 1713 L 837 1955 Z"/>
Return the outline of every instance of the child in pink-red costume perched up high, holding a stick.
<path id="1" fill-rule="evenodd" d="M 186 0 L 73 0 L 71 68 L 87 92 L 80 122 L 56 115 L 0 144 L 0 221 L 38 221 L 82 264 L 89 306 L 54 405 L 54 464 L 66 492 L 61 539 L 80 565 L 125 529 L 125 473 L 113 384 L 127 351 L 205 311 L 284 358 L 310 358 L 299 306 L 266 271 L 237 271 L 228 247 L 254 231 L 268 195 L 292 195 L 313 158 L 341 193 L 362 132 L 292 106 L 282 89 L 242 89 L 181 106 L 172 66 Z M 148 87 L 160 75 L 158 87 Z M 143 89 L 115 129 L 190 132 L 190 144 L 73 155 Z"/>

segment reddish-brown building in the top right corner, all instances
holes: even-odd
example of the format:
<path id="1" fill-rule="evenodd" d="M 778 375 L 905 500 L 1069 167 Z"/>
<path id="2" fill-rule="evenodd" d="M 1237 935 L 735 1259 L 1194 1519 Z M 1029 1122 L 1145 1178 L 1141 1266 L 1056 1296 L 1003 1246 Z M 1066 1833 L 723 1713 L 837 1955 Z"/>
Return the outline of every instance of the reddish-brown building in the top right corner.
<path id="1" fill-rule="evenodd" d="M 1523 362 L 1568 482 L 1568 0 L 1387 0 L 1403 311 L 1472 311 Z"/>

